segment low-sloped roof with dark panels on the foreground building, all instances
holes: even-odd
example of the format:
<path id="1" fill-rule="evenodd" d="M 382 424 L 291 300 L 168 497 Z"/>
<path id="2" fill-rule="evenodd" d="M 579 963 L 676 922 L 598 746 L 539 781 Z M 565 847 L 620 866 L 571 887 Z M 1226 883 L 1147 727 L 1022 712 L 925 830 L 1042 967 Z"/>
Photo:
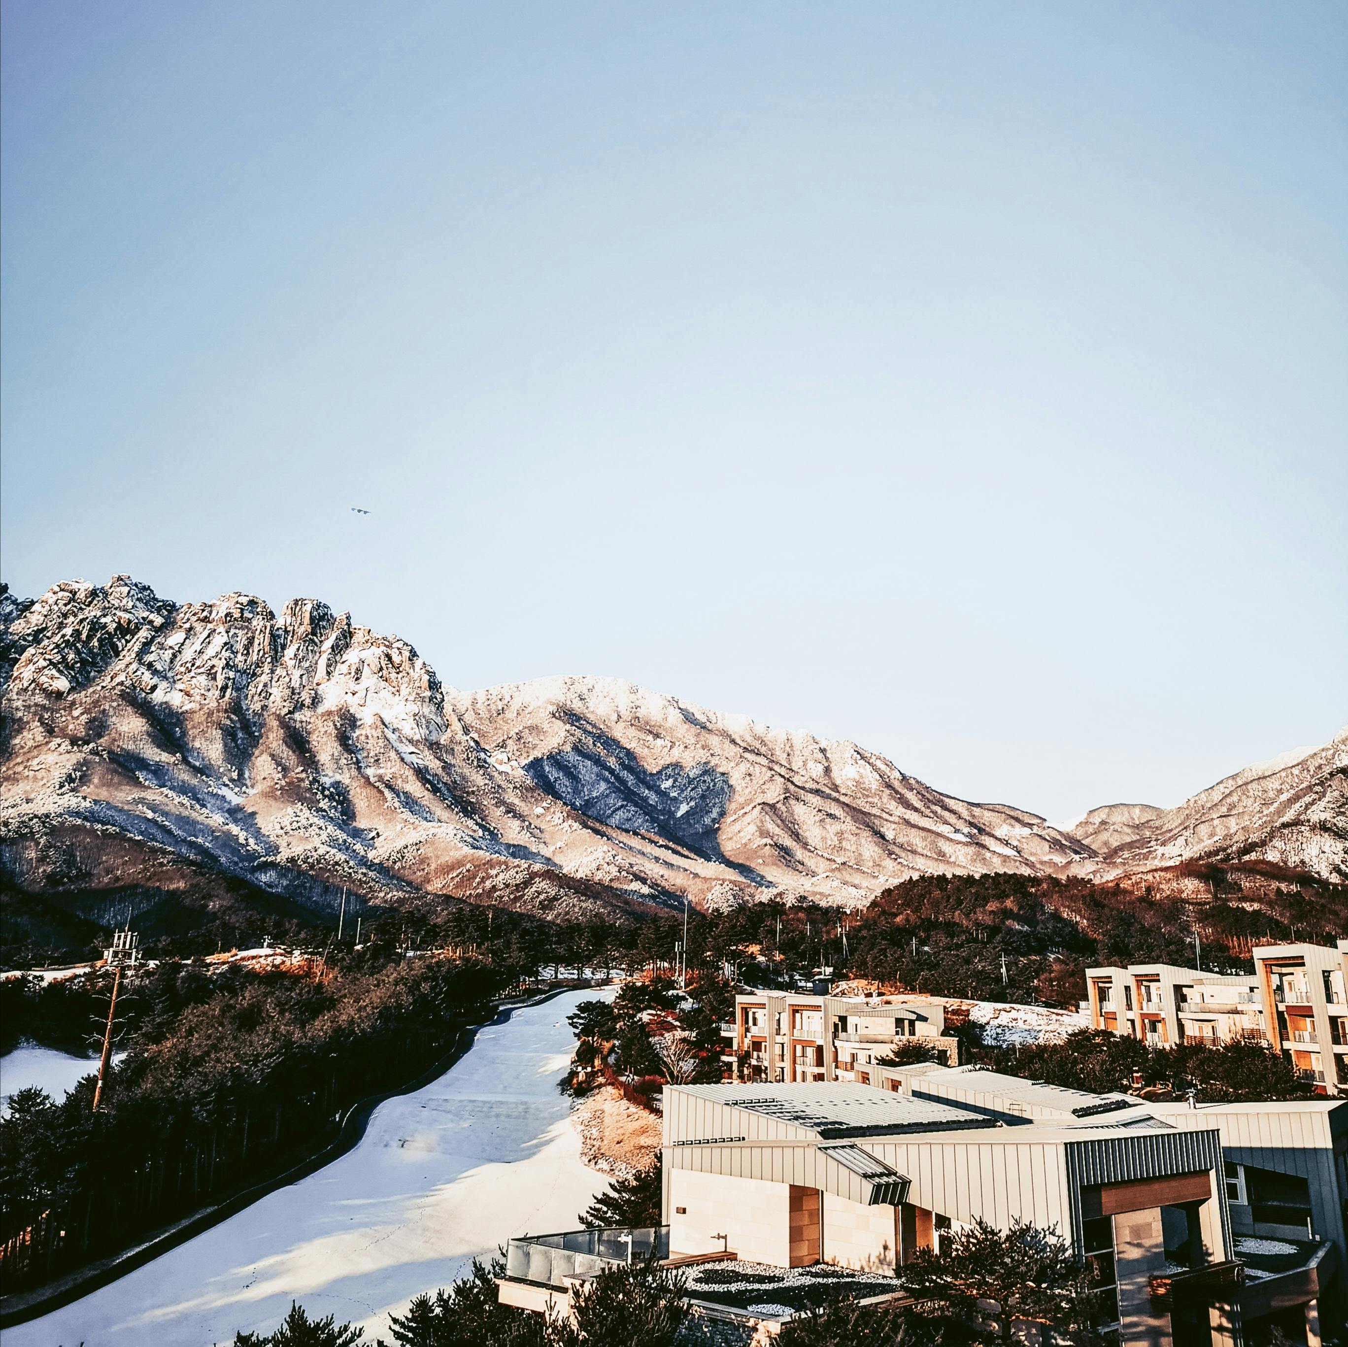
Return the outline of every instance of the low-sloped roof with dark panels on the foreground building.
<path id="1" fill-rule="evenodd" d="M 743 1108 L 813 1131 L 821 1139 L 995 1126 L 992 1118 L 983 1118 L 934 1099 L 900 1095 L 849 1081 L 793 1085 L 679 1085 L 678 1088 L 712 1103 Z"/>

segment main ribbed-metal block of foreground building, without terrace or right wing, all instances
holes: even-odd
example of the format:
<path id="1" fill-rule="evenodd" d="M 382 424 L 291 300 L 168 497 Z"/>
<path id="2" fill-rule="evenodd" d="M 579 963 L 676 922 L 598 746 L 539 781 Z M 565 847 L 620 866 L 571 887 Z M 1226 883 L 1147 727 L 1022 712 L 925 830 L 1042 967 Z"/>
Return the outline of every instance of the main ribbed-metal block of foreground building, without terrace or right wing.
<path id="1" fill-rule="evenodd" d="M 922 1079 L 918 1068 L 914 1084 Z M 1111 1270 L 1124 1347 L 1171 1347 L 1157 1278 L 1180 1257 L 1198 1270 L 1190 1277 L 1212 1269 L 1204 1328 L 1212 1342 L 1233 1344 L 1224 1327 L 1239 1311 L 1227 1285 L 1235 1262 L 1217 1129 L 1173 1129 L 1146 1115 L 1140 1127 L 1119 1126 L 1119 1115 L 1138 1108 L 1122 1096 L 1081 1118 L 1073 1110 L 1100 1100 L 1076 1091 L 1050 1096 L 1057 1111 L 1046 1103 L 1042 1120 L 1008 1126 L 996 1111 L 1016 1087 L 1046 1087 L 1014 1077 L 989 1085 L 1000 1103 L 980 1106 L 972 1087 L 958 1106 L 949 1089 L 938 1099 L 838 1083 L 670 1087 L 671 1254 L 729 1249 L 779 1266 L 898 1271 L 917 1249 L 940 1246 L 942 1230 L 1026 1222 L 1058 1230 Z"/>

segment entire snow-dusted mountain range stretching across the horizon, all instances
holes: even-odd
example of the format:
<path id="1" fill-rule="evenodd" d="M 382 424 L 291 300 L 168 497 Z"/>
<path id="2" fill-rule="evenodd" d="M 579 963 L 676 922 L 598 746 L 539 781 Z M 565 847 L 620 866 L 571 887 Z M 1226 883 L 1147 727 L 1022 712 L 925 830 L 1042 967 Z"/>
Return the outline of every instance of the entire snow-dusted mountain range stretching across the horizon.
<path id="1" fill-rule="evenodd" d="M 1223 839 L 1254 854 L 1268 809 L 1279 855 L 1295 814 L 1297 854 L 1345 868 L 1340 740 L 1298 759 L 1291 812 L 1240 774 L 1211 804 L 1073 835 L 856 744 L 616 680 L 457 693 L 406 642 L 307 599 L 278 618 L 249 595 L 179 605 L 125 576 L 0 592 L 0 848 L 30 889 L 174 889 L 208 870 L 321 903 L 340 886 L 569 916 L 685 895 L 855 903 L 921 874 L 1084 872 L 1101 851 L 1112 868 Z M 1332 760 L 1336 797 L 1316 775 Z M 1263 813 L 1233 802 L 1260 791 Z"/>

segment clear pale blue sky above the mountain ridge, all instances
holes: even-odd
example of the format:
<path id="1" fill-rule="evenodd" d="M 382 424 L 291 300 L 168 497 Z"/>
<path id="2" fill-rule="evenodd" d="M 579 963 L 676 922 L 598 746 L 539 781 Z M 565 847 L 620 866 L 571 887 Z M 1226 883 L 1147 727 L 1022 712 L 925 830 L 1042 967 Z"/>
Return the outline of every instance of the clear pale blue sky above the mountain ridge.
<path id="1" fill-rule="evenodd" d="M 3 16 L 15 591 L 318 596 L 1051 818 L 1348 720 L 1348 7 Z"/>

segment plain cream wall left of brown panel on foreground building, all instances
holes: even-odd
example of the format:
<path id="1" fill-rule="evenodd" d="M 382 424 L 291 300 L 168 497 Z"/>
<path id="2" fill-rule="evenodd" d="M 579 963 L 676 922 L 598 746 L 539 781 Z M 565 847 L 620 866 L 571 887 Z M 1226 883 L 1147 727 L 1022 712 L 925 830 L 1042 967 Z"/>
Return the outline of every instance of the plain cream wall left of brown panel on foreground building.
<path id="1" fill-rule="evenodd" d="M 709 1254 L 729 1247 L 751 1262 L 790 1266 L 790 1184 L 675 1169 L 670 1173 L 669 1200 L 671 1254 Z M 727 1236 L 725 1246 L 712 1238 L 717 1234 Z"/>

